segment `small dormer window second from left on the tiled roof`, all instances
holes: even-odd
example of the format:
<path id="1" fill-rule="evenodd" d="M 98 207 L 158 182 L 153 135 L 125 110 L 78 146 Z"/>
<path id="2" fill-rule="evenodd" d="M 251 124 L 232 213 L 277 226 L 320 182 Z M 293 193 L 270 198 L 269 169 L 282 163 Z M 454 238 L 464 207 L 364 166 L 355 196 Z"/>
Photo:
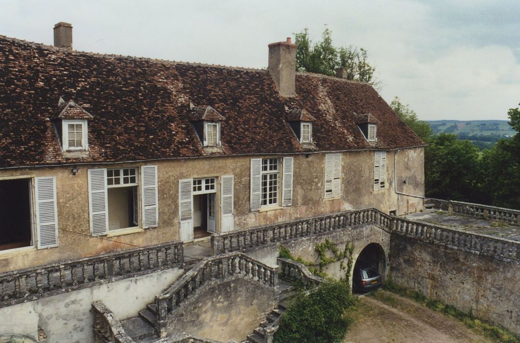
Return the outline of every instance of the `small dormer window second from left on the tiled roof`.
<path id="1" fill-rule="evenodd" d="M 226 118 L 220 115 L 217 110 L 209 105 L 195 106 L 191 104 L 189 120 L 203 147 L 220 147 L 220 123 L 225 121 Z"/>

